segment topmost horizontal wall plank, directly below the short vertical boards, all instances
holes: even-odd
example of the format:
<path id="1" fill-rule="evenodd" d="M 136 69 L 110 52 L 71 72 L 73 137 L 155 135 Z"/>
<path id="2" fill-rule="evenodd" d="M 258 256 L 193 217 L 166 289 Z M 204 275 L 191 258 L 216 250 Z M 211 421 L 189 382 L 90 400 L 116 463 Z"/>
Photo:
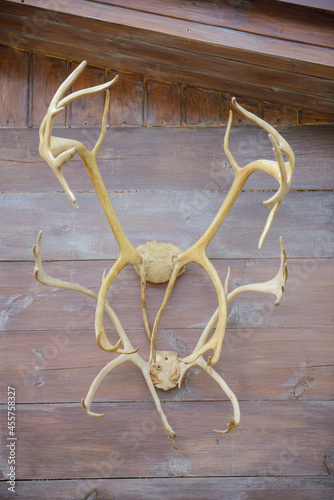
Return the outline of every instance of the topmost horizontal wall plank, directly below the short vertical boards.
<path id="1" fill-rule="evenodd" d="M 234 115 L 237 119 L 238 114 Z M 334 189 L 333 127 L 279 130 L 296 156 L 292 189 Z M 99 133 L 99 129 L 54 131 L 54 135 L 80 140 L 90 149 Z M 109 129 L 98 156 L 102 178 L 109 191 L 226 192 L 233 181 L 233 172 L 223 150 L 224 133 L 225 129 L 218 127 Z M 2 129 L 0 138 L 1 191 L 26 193 L 62 189 L 39 156 L 37 130 Z M 259 128 L 233 127 L 229 142 L 240 166 L 256 158 L 273 159 L 268 136 Z M 78 157 L 64 168 L 64 174 L 72 190 L 93 190 Z M 245 189 L 271 190 L 276 186 L 271 176 L 256 173 L 247 181 Z"/>

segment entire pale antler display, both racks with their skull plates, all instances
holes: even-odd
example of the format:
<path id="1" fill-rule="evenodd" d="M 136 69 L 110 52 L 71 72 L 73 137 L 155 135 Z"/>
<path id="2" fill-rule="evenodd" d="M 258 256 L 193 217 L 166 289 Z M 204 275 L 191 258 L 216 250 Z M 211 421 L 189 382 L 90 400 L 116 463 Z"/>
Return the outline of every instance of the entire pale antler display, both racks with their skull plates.
<path id="1" fill-rule="evenodd" d="M 70 190 L 61 169 L 67 161 L 74 157 L 74 155 L 78 154 L 80 156 L 89 174 L 103 211 L 107 217 L 110 228 L 115 236 L 119 247 L 119 257 L 116 259 L 114 265 L 108 273 L 103 276 L 100 290 L 98 293 L 95 293 L 80 285 L 52 278 L 44 271 L 41 258 L 41 231 L 38 235 L 37 244 L 34 245 L 33 248 L 36 261 L 34 271 L 35 278 L 44 285 L 65 288 L 67 290 L 75 290 L 96 300 L 95 336 L 97 345 L 105 351 L 119 354 L 116 358 L 110 361 L 100 371 L 100 373 L 97 374 L 87 393 L 87 396 L 82 400 L 82 406 L 89 415 L 102 417 L 103 415 L 96 414 L 91 411 L 92 401 L 97 388 L 105 376 L 114 368 L 126 361 L 131 361 L 141 370 L 162 419 L 163 426 L 173 446 L 175 447 L 175 432 L 169 425 L 166 415 L 161 408 L 156 389 L 168 390 L 175 386 L 180 387 L 187 371 L 193 366 L 199 366 L 218 383 L 232 402 L 233 417 L 231 418 L 227 429 L 214 431 L 220 434 L 227 433 L 237 427 L 240 422 L 239 404 L 236 396 L 228 387 L 224 379 L 212 368 L 212 366 L 217 363 L 221 355 L 227 321 L 227 306 L 237 295 L 249 291 L 274 294 L 276 296 L 275 305 L 279 305 L 284 294 L 285 282 L 288 275 L 286 254 L 283 239 L 281 238 L 281 265 L 277 275 L 268 282 L 244 285 L 234 289 L 232 292 L 228 292 L 230 269 L 228 269 L 225 284 L 223 285 L 217 270 L 208 259 L 206 251 L 210 241 L 215 236 L 221 224 L 225 220 L 225 217 L 233 207 L 237 197 L 245 185 L 245 182 L 253 172 L 257 171 L 266 172 L 272 175 L 279 183 L 277 193 L 272 196 L 272 198 L 264 202 L 264 206 L 270 209 L 270 213 L 259 241 L 259 249 L 262 247 L 273 218 L 290 189 L 295 162 L 293 151 L 289 144 L 273 127 L 271 127 L 264 120 L 255 116 L 253 113 L 245 110 L 237 103 L 236 99 L 233 98 L 232 104 L 235 110 L 268 132 L 269 140 L 273 146 L 276 160 L 255 160 L 242 168 L 239 167 L 233 158 L 228 145 L 232 126 L 232 111 L 230 111 L 224 140 L 224 151 L 232 165 L 235 178 L 227 196 L 225 197 L 208 229 L 191 248 L 185 251 L 180 250 L 172 244 L 157 243 L 156 241 L 134 248 L 119 223 L 96 163 L 97 153 L 102 145 L 106 133 L 106 121 L 109 109 L 109 88 L 116 83 L 118 77 L 116 76 L 112 81 L 103 85 L 83 89 L 63 97 L 79 74 L 84 70 L 85 66 L 86 62 L 84 61 L 68 76 L 55 93 L 40 127 L 39 152 L 59 179 L 69 200 L 75 208 L 78 208 L 75 196 Z M 101 91 L 105 91 L 106 93 L 102 117 L 102 130 L 92 151 L 89 151 L 81 142 L 52 136 L 54 117 L 64 110 L 71 101 L 81 96 Z M 287 156 L 286 162 L 284 162 L 283 154 Z M 192 262 L 199 264 L 208 273 L 217 293 L 218 308 L 203 330 L 203 333 L 201 334 L 192 354 L 180 359 L 178 358 L 178 354 L 176 352 L 157 351 L 156 341 L 159 321 L 166 308 L 176 279 L 181 273 L 184 272 L 187 264 Z M 148 361 L 145 361 L 138 353 L 138 349 L 132 346 L 119 318 L 107 300 L 107 293 L 113 281 L 122 269 L 130 264 L 134 266 L 140 277 L 143 322 L 148 341 L 150 342 L 150 357 Z M 168 283 L 165 296 L 156 315 L 152 331 L 150 329 L 146 310 L 147 281 L 153 283 Z M 109 316 L 119 335 L 119 340 L 115 345 L 109 341 L 104 327 L 105 313 Z M 211 335 L 215 326 L 216 329 Z M 208 350 L 212 350 L 213 355 L 212 357 L 209 356 L 208 359 L 205 360 L 203 356 Z"/>

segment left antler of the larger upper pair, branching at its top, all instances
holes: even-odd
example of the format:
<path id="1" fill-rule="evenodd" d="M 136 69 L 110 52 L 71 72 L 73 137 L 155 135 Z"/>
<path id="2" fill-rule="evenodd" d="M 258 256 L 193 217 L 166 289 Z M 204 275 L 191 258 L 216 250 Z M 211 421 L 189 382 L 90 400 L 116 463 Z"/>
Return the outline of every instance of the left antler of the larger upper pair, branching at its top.
<path id="1" fill-rule="evenodd" d="M 106 190 L 106 187 L 103 183 L 102 177 L 100 175 L 100 172 L 96 164 L 97 153 L 102 145 L 103 139 L 106 134 L 107 115 L 109 109 L 109 91 L 107 89 L 109 89 L 114 83 L 116 83 L 118 76 L 116 76 L 110 82 L 104 83 L 102 85 L 97 85 L 96 87 L 79 90 L 62 98 L 65 92 L 72 85 L 72 83 L 78 78 L 80 73 L 84 70 L 85 66 L 86 66 L 86 61 L 83 61 L 60 85 L 59 89 L 57 90 L 53 99 L 51 100 L 47 114 L 40 126 L 39 151 L 41 156 L 45 159 L 45 161 L 51 167 L 52 171 L 57 176 L 61 185 L 65 189 L 65 192 L 67 193 L 69 200 L 71 201 L 71 203 L 75 208 L 78 208 L 75 196 L 73 192 L 70 190 L 61 169 L 63 165 L 68 160 L 73 158 L 73 156 L 76 153 L 79 154 L 84 166 L 86 167 L 88 175 L 94 186 L 95 192 L 99 198 L 103 211 L 107 217 L 107 220 L 114 233 L 115 239 L 119 247 L 119 252 L 120 252 L 119 257 L 112 266 L 112 268 L 110 269 L 110 271 L 108 272 L 108 274 L 104 277 L 102 281 L 102 286 L 100 288 L 100 292 L 97 297 L 95 334 L 96 334 L 97 344 L 100 347 L 104 348 L 103 345 L 105 339 L 107 338 L 107 334 L 103 324 L 103 313 L 106 308 L 107 292 L 113 280 L 121 272 L 121 270 L 128 264 L 133 264 L 139 270 L 141 270 L 142 255 L 131 245 L 131 243 L 125 236 L 122 227 L 119 223 L 119 220 L 117 218 L 117 215 L 115 213 L 115 210 L 112 206 L 112 203 L 109 199 L 108 192 Z M 52 136 L 54 117 L 60 111 L 64 110 L 65 106 L 67 106 L 70 102 L 72 102 L 75 99 L 78 99 L 81 96 L 93 94 L 96 92 L 101 92 L 102 90 L 106 90 L 105 106 L 102 117 L 102 128 L 100 137 L 97 140 L 92 151 L 88 151 L 88 149 L 79 141 Z M 144 304 L 142 307 L 144 315 Z"/>

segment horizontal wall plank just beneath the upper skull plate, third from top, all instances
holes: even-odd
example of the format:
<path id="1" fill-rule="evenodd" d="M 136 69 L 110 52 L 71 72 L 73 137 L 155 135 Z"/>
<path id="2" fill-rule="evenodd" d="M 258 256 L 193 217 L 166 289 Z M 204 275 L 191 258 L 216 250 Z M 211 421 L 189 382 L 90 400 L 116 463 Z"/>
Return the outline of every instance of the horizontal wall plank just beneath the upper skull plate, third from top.
<path id="1" fill-rule="evenodd" d="M 51 276 L 98 291 L 103 271 L 111 264 L 110 261 L 60 262 L 45 264 L 45 269 Z M 279 260 L 227 260 L 216 261 L 215 265 L 223 282 L 230 265 L 231 290 L 244 283 L 271 279 L 277 273 Z M 333 325 L 332 259 L 290 259 L 288 266 L 289 280 L 282 304 L 274 307 L 274 297 L 269 295 L 241 294 L 229 306 L 228 328 L 317 328 Z M 33 268 L 32 263 L 1 264 L 1 329 L 81 331 L 91 328 L 93 331 L 95 301 L 77 292 L 41 285 L 33 278 Z M 165 285 L 147 286 L 151 325 L 164 292 Z M 116 278 L 109 299 L 126 330 L 139 328 L 143 332 L 140 283 L 133 269 L 124 269 Z M 217 297 L 207 274 L 199 266 L 189 265 L 176 282 L 160 328 L 202 329 L 216 307 Z M 107 328 L 108 325 L 106 320 Z"/>

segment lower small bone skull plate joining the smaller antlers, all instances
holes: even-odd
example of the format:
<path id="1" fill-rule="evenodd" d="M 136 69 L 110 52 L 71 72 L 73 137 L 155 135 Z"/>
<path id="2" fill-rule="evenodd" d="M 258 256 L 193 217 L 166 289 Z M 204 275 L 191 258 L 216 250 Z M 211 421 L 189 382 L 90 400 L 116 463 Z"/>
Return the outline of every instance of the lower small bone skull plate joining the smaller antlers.
<path id="1" fill-rule="evenodd" d="M 168 391 L 177 385 L 180 377 L 180 362 L 173 351 L 157 351 L 156 362 L 151 364 L 150 376 L 158 389 Z"/>

